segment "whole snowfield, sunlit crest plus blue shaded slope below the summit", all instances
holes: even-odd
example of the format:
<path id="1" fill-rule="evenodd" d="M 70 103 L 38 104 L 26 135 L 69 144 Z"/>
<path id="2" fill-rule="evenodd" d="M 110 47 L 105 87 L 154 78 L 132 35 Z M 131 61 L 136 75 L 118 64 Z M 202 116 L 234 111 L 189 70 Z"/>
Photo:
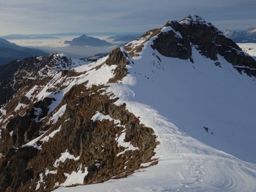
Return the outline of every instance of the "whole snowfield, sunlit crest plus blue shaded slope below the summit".
<path id="1" fill-rule="evenodd" d="M 154 130 L 159 163 L 127 178 L 55 191 L 256 191 L 255 78 L 220 55 L 221 67 L 193 48 L 192 64 L 160 55 L 151 43 L 106 93 Z"/>

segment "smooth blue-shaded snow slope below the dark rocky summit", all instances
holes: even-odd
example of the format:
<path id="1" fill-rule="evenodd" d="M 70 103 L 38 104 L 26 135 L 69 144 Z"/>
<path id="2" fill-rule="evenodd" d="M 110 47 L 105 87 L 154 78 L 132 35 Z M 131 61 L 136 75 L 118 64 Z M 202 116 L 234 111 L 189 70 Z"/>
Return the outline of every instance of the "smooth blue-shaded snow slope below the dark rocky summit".
<path id="1" fill-rule="evenodd" d="M 129 69 L 137 80 L 131 87 L 133 101 L 154 107 L 182 131 L 214 148 L 256 162 L 254 78 L 241 75 L 221 56 L 222 68 L 216 67 L 195 48 L 195 64 L 161 56 L 151 48 L 141 57 L 133 59 Z"/>

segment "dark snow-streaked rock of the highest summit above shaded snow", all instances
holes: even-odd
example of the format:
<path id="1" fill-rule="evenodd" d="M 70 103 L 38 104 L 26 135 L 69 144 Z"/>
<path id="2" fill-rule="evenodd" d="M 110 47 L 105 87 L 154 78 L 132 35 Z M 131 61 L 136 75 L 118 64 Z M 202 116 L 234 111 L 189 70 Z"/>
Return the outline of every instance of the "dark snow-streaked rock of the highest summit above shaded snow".
<path id="1" fill-rule="evenodd" d="M 189 59 L 193 62 L 193 46 L 201 55 L 211 60 L 218 62 L 218 55 L 223 56 L 239 72 L 243 71 L 249 76 L 256 76 L 256 61 L 246 55 L 233 40 L 225 37 L 221 31 L 211 23 L 205 22 L 200 16 L 187 16 L 180 21 L 170 20 L 162 29 L 155 31 L 154 35 L 157 36 L 154 38 L 150 36 L 153 41 L 151 47 L 163 56 Z M 139 37 L 137 40 L 142 39 L 143 37 Z M 146 41 L 148 39 L 139 45 L 135 42 L 130 43 L 125 49 L 131 57 L 138 56 Z"/>

